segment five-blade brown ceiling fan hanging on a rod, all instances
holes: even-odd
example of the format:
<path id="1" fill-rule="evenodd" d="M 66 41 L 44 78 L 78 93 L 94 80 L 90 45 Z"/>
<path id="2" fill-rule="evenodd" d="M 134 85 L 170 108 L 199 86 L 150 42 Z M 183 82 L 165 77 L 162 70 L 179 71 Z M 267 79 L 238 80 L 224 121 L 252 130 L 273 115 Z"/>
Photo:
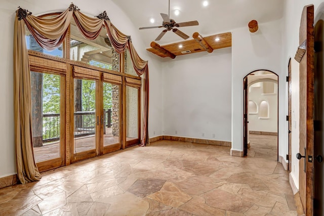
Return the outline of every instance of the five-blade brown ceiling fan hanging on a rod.
<path id="1" fill-rule="evenodd" d="M 189 21 L 189 22 L 181 22 L 181 23 L 176 23 L 176 21 L 174 21 L 173 19 L 170 19 L 170 0 L 169 0 L 169 15 L 168 14 L 162 14 L 160 13 L 163 22 L 161 26 L 150 26 L 150 27 L 141 27 L 139 29 L 148 29 L 148 28 L 161 28 L 161 27 L 165 27 L 166 29 L 164 29 L 157 37 L 155 40 L 160 40 L 165 33 L 167 33 L 167 31 L 172 30 L 174 33 L 178 34 L 180 37 L 182 37 L 183 39 L 188 39 L 189 36 L 185 33 L 183 33 L 182 31 L 180 31 L 177 28 L 174 27 L 184 27 L 184 26 L 193 26 L 193 25 L 199 25 L 198 21 Z"/>

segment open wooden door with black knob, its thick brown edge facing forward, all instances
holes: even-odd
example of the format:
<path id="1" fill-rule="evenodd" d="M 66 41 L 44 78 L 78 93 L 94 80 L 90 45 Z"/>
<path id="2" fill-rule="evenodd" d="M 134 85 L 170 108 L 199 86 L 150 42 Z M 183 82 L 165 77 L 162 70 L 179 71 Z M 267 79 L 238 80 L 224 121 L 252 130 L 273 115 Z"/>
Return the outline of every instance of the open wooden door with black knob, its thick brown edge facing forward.
<path id="1" fill-rule="evenodd" d="M 306 215 L 313 215 L 314 155 L 314 6 L 302 12 L 299 44 L 295 59 L 300 61 L 299 84 L 299 194 Z M 298 54 L 304 53 L 304 55 Z M 302 157 L 301 157 L 302 156 Z"/>

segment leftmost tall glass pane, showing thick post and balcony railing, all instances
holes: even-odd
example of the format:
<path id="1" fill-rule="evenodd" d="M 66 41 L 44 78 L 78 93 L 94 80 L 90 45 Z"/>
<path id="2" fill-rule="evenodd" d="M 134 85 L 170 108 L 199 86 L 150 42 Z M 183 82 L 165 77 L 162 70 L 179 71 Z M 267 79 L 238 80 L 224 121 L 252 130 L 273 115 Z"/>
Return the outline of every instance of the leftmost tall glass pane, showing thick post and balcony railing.
<path id="1" fill-rule="evenodd" d="M 60 76 L 30 72 L 35 161 L 60 157 Z"/>

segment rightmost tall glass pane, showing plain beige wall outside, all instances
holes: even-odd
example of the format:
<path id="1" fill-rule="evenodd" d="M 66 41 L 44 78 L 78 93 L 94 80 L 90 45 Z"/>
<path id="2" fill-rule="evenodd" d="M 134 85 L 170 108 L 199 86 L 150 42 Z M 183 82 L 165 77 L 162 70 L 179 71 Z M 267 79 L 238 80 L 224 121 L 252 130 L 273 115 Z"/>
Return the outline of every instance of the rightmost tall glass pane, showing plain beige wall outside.
<path id="1" fill-rule="evenodd" d="M 126 87 L 126 141 L 138 139 L 138 89 Z"/>

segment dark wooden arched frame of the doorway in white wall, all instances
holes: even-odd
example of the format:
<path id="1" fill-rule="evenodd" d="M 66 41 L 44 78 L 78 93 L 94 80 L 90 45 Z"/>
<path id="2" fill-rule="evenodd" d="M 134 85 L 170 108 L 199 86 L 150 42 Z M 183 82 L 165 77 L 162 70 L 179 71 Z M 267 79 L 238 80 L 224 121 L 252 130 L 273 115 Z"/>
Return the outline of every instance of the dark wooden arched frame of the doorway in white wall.
<path id="1" fill-rule="evenodd" d="M 248 155 L 248 94 L 249 94 L 249 89 L 248 89 L 248 76 L 251 73 L 257 72 L 257 71 L 268 71 L 277 76 L 277 161 L 279 160 L 279 139 L 278 139 L 278 132 L 279 132 L 279 76 L 275 72 L 271 70 L 266 70 L 266 69 L 260 69 L 260 70 L 254 70 L 250 73 L 248 73 L 244 78 L 243 78 L 243 156 L 246 157 Z"/>

